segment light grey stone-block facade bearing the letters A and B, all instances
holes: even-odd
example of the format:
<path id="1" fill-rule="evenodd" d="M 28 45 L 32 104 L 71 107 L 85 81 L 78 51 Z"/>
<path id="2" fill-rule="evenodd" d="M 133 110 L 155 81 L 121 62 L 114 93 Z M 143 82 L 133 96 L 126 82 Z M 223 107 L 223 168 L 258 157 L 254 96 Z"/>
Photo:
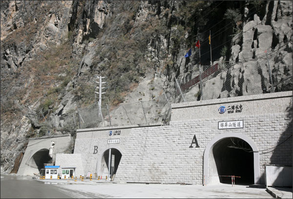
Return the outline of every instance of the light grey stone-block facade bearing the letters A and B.
<path id="1" fill-rule="evenodd" d="M 241 112 L 228 113 L 241 105 Z M 225 106 L 225 113 L 219 107 Z M 104 152 L 122 154 L 115 181 L 202 184 L 207 145 L 220 135 L 245 136 L 258 149 L 259 179 L 266 164 L 292 166 L 292 91 L 172 104 L 170 124 L 78 129 L 74 154 L 81 154 L 84 174 L 101 175 Z M 240 109 L 239 109 L 240 110 Z M 218 123 L 243 120 L 243 128 L 219 129 Z M 120 135 L 109 136 L 109 131 Z M 189 148 L 196 136 L 199 147 Z M 108 139 L 120 143 L 108 144 Z M 94 149 L 97 151 L 94 151 Z M 94 153 L 96 152 L 96 153 Z M 255 172 L 254 172 L 255 173 Z"/>

